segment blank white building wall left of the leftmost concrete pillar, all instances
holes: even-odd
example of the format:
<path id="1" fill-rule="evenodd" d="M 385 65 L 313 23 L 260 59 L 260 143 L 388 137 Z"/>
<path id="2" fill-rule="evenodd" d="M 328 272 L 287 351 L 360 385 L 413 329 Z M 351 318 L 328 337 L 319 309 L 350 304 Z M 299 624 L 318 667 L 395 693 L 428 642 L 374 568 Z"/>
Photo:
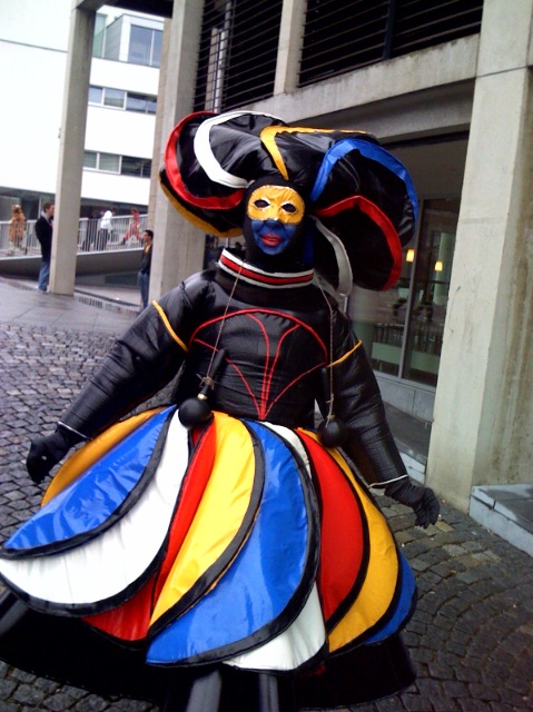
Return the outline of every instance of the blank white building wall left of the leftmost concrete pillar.
<path id="1" fill-rule="evenodd" d="M 0 2 L 0 187 L 56 190 L 70 0 L 55 4 Z"/>

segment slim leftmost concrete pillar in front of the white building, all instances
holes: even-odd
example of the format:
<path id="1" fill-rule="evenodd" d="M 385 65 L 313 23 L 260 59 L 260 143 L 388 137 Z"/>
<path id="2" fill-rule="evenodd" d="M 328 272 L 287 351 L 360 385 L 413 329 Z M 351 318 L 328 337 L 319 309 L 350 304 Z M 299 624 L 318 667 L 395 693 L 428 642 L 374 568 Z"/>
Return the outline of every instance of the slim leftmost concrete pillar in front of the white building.
<path id="1" fill-rule="evenodd" d="M 95 12 L 73 8 L 65 79 L 50 291 L 73 294 Z"/>

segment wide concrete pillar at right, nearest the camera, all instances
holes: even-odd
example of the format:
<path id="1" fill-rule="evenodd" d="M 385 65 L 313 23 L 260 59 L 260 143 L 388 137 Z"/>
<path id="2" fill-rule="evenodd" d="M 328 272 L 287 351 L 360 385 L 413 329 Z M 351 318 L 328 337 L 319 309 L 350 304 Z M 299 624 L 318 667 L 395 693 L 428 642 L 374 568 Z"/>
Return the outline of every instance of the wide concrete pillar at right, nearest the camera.
<path id="1" fill-rule="evenodd" d="M 533 475 L 533 0 L 485 0 L 427 482 Z"/>

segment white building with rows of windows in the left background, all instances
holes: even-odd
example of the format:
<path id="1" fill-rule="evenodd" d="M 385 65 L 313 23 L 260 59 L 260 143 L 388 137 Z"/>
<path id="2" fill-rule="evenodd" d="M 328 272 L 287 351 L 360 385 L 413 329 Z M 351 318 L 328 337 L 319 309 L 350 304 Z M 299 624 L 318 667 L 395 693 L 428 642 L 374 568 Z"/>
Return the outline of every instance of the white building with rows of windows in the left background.
<path id="1" fill-rule="evenodd" d="M 0 6 L 6 89 L 0 220 L 11 217 L 13 202 L 36 219 L 56 194 L 71 6 L 71 0 L 7 0 Z M 146 211 L 159 61 L 136 57 L 132 47 L 136 31 L 162 37 L 162 20 L 103 6 L 93 24 L 96 37 L 87 39 L 91 59 L 81 68 L 89 71 L 88 93 L 80 97 L 79 108 L 69 106 L 80 120 L 86 117 L 78 127 L 85 148 L 80 216 L 97 217 L 107 207 L 127 215 L 131 207 Z"/>

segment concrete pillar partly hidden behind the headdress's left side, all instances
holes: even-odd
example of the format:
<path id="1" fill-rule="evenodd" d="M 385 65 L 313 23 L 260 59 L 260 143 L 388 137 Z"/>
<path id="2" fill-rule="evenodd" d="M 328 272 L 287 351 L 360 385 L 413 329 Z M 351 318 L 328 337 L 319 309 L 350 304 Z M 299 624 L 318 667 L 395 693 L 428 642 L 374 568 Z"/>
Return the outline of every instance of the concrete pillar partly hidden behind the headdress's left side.
<path id="1" fill-rule="evenodd" d="M 168 37 L 167 59 L 161 62 L 165 72 L 160 83 L 164 89 L 161 130 L 159 147 L 155 149 L 159 166 L 162 165 L 170 131 L 185 115 L 193 111 L 203 11 L 204 2 L 198 0 L 175 2 L 171 22 L 165 30 Z M 155 241 L 150 298 L 158 298 L 181 279 L 201 269 L 205 236 L 178 214 L 160 188 L 154 196 L 152 205 Z"/>

